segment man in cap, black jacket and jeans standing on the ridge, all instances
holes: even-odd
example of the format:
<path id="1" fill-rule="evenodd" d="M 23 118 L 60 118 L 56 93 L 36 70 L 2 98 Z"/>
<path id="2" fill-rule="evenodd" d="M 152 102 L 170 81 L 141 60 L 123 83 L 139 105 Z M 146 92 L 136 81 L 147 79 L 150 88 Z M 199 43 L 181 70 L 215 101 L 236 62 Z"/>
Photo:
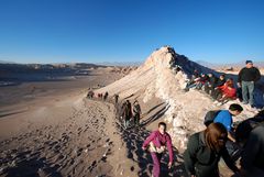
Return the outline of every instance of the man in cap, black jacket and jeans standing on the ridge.
<path id="1" fill-rule="evenodd" d="M 250 103 L 254 107 L 254 86 L 257 80 L 261 79 L 260 70 L 253 66 L 252 60 L 245 62 L 246 66 L 242 68 L 239 73 L 238 86 L 242 87 L 243 103 Z M 248 98 L 250 96 L 250 99 Z"/>

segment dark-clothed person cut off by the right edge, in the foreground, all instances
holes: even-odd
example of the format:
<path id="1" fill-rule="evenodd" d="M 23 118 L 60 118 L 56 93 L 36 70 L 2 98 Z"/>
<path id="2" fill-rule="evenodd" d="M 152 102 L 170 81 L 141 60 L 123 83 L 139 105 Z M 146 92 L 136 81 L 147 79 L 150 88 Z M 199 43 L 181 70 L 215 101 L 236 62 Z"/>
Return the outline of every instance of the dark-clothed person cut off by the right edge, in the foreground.
<path id="1" fill-rule="evenodd" d="M 249 135 L 241 156 L 241 175 L 264 176 L 264 124 L 253 129 Z"/>

